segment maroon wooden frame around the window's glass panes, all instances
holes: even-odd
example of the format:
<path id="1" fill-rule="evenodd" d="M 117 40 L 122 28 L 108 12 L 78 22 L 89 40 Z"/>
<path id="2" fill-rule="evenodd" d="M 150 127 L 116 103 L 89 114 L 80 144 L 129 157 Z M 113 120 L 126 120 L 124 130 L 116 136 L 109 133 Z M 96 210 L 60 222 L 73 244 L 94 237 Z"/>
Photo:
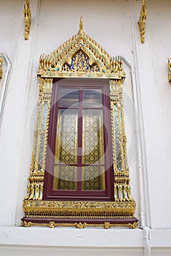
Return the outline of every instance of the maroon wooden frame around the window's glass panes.
<path id="1" fill-rule="evenodd" d="M 58 91 L 60 88 L 68 89 L 102 89 L 102 113 L 103 113 L 103 131 L 104 131 L 104 168 L 105 168 L 105 189 L 104 190 L 82 190 L 78 184 L 77 190 L 53 189 L 53 168 L 54 155 L 56 151 L 56 129 L 58 119 Z M 80 79 L 64 78 L 54 80 L 52 99 L 50 103 L 50 121 L 47 138 L 47 154 L 45 166 L 45 181 L 43 189 L 43 200 L 113 200 L 113 157 L 111 140 L 111 122 L 110 122 L 110 91 L 109 81 L 104 79 Z M 79 102 L 81 99 L 79 98 Z M 78 118 L 81 127 L 81 117 Z M 82 141 L 81 129 L 78 131 L 78 147 Z M 78 156 L 79 158 L 79 156 Z M 77 163 L 79 165 L 80 160 Z M 81 164 L 81 166 L 83 166 Z M 79 166 L 80 167 L 80 166 Z M 81 181 L 77 181 L 79 183 Z"/>

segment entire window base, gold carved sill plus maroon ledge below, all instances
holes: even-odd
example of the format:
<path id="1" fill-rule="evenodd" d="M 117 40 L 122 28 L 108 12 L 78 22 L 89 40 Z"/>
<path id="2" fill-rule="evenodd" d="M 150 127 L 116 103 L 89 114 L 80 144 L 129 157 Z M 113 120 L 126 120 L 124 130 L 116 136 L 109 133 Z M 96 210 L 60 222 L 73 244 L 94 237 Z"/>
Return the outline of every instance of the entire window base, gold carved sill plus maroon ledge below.
<path id="1" fill-rule="evenodd" d="M 23 227 L 136 228 L 135 202 L 24 200 Z"/>

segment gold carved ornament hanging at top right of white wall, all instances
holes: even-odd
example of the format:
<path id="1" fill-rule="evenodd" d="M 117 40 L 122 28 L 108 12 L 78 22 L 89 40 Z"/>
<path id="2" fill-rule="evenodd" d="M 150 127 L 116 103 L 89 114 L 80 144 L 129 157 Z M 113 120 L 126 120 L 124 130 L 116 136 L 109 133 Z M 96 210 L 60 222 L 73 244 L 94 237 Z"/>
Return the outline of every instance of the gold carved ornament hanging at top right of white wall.
<path id="1" fill-rule="evenodd" d="M 142 7 L 140 11 L 140 17 L 138 21 L 138 28 L 140 31 L 140 39 L 142 44 L 145 42 L 145 22 L 147 18 L 147 7 L 146 7 L 146 0 L 142 0 Z"/>

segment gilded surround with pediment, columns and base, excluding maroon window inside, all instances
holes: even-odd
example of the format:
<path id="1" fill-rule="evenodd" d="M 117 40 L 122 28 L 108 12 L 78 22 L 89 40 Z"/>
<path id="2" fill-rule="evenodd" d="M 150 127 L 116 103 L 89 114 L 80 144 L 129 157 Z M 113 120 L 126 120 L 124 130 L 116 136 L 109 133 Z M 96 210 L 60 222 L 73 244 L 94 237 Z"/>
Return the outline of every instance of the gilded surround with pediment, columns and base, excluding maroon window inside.
<path id="1" fill-rule="evenodd" d="M 96 69 L 66 69 L 71 67 L 72 58 L 79 50 L 88 56 L 90 67 Z M 129 185 L 129 166 L 126 154 L 126 134 L 123 116 L 122 84 L 126 78 L 121 56 L 111 57 L 94 39 L 80 29 L 71 39 L 64 42 L 53 53 L 43 54 L 37 71 L 39 100 L 37 123 L 34 132 L 34 148 L 28 178 L 27 195 L 23 200 L 23 227 L 43 225 L 48 227 L 137 227 L 134 217 L 136 203 Z M 110 81 L 111 129 L 113 140 L 114 201 L 47 201 L 42 200 L 47 135 L 50 116 L 50 100 L 53 80 L 56 78 L 102 78 Z M 115 111 L 117 109 L 117 111 Z M 118 115 L 118 116 L 117 116 Z M 117 116 L 118 141 L 121 148 L 121 168 L 117 166 L 115 120 Z"/>

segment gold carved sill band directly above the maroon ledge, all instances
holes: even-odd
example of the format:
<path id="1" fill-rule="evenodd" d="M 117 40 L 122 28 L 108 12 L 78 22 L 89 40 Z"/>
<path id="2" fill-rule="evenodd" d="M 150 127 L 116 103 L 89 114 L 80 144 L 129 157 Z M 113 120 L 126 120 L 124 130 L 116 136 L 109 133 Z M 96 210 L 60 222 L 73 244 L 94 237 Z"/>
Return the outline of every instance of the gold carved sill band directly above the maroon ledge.
<path id="1" fill-rule="evenodd" d="M 23 201 L 25 217 L 38 219 L 130 219 L 134 218 L 135 208 L 134 201 Z"/>

